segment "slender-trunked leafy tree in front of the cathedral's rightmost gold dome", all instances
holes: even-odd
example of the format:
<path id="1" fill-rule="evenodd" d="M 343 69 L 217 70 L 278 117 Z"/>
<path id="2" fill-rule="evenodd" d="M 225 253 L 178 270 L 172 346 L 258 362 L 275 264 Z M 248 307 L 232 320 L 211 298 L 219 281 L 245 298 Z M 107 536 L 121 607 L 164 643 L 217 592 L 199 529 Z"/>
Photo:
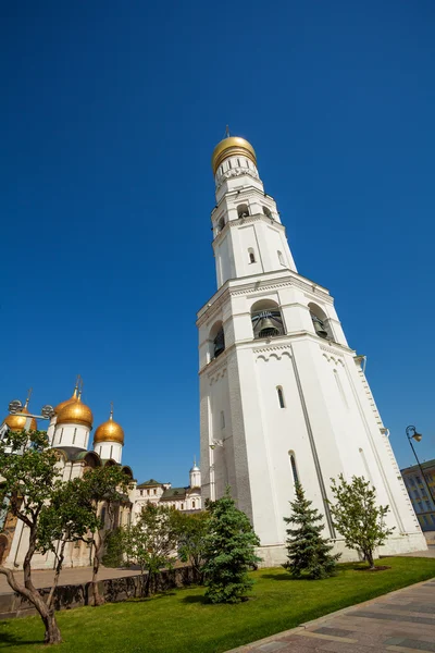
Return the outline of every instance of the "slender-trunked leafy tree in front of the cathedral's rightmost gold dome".
<path id="1" fill-rule="evenodd" d="M 92 603 L 101 605 L 104 597 L 98 591 L 98 571 L 104 554 L 108 537 L 113 531 L 116 508 L 125 500 L 132 488 L 132 479 L 117 465 L 95 467 L 83 476 L 83 498 L 92 506 L 95 516 L 94 533 L 90 539 L 92 557 Z"/>

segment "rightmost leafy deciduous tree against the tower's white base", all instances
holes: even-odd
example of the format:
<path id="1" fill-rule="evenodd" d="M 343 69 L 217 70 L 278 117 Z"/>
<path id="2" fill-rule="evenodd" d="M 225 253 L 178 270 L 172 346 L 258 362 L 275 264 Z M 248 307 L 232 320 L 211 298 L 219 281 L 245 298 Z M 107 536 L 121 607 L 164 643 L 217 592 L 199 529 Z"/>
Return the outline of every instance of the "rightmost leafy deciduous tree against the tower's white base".
<path id="1" fill-rule="evenodd" d="M 376 503 L 376 491 L 364 477 L 352 477 L 348 483 L 343 473 L 338 482 L 332 479 L 331 490 L 336 500 L 331 504 L 334 526 L 345 538 L 346 546 L 360 551 L 371 569 L 375 569 L 374 552 L 393 533 L 385 518 L 388 506 Z"/>

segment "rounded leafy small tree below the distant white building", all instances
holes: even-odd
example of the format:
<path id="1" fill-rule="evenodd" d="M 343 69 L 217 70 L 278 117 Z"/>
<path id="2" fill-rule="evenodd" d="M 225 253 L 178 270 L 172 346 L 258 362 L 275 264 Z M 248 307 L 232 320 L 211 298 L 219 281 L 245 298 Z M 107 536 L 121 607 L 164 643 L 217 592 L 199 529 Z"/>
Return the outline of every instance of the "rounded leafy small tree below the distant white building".
<path id="1" fill-rule="evenodd" d="M 124 550 L 130 563 L 147 574 L 145 595 L 149 596 L 156 577 L 164 567 L 172 568 L 176 560 L 178 515 L 174 507 L 148 502 L 134 526 L 124 531 Z"/>

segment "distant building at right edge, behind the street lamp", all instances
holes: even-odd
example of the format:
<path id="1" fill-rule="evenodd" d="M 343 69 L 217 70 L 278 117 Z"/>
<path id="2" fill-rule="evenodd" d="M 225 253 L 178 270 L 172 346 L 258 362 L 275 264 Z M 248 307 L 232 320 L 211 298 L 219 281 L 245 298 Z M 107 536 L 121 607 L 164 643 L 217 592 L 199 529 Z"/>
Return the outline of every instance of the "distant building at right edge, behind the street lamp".
<path id="1" fill-rule="evenodd" d="M 407 467 L 400 471 L 422 530 L 435 530 L 435 505 L 427 492 L 428 485 L 435 495 L 435 459 L 422 463 L 421 467 L 424 479 L 418 465 Z"/>

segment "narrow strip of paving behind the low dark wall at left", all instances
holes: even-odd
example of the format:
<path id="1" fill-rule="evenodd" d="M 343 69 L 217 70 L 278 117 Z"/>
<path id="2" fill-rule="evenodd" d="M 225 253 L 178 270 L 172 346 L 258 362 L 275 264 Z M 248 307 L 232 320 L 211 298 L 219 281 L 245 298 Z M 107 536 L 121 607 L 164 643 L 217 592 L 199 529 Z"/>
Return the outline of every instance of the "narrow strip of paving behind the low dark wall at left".
<path id="1" fill-rule="evenodd" d="M 98 579 L 104 580 L 107 578 L 121 578 L 123 576 L 136 576 L 140 571 L 135 568 L 129 569 L 112 569 L 110 567 L 100 567 L 98 572 Z M 16 578 L 20 582 L 23 582 L 23 572 L 16 571 Z M 32 578 L 36 588 L 49 588 L 54 577 L 54 571 L 51 569 L 37 569 L 32 571 Z M 92 579 L 91 567 L 76 567 L 62 569 L 59 584 L 76 584 L 82 582 L 88 582 Z M 0 594 L 10 593 L 12 590 L 8 584 L 7 577 L 0 575 Z"/>

